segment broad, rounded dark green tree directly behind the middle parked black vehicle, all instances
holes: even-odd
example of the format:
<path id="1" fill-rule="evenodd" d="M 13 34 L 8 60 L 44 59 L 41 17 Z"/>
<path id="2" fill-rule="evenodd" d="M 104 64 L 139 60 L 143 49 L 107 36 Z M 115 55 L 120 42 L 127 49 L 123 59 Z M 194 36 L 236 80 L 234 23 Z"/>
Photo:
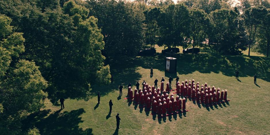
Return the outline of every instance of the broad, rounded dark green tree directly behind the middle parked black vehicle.
<path id="1" fill-rule="evenodd" d="M 161 13 L 159 46 L 176 47 L 184 45 L 189 36 L 188 8 L 181 4 L 172 4 Z"/>

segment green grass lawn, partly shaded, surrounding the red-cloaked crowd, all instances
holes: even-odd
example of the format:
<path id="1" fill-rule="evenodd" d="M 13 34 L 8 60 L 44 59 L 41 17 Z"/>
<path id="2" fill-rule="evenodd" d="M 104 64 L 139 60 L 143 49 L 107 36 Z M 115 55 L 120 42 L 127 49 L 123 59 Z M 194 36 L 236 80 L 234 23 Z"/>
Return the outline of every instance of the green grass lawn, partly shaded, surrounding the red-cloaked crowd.
<path id="1" fill-rule="evenodd" d="M 157 50 L 162 49 L 157 47 Z M 269 58 L 208 54 L 178 54 L 176 57 L 177 74 L 164 72 L 165 56 L 159 53 L 115 61 L 110 64 L 113 83 L 93 87 L 89 101 L 66 99 L 63 110 L 48 101 L 40 113 L 28 116 L 25 129 L 36 126 L 41 134 L 270 134 Z M 152 78 L 151 67 L 154 69 Z M 234 77 L 236 69 L 240 71 L 239 81 Z M 255 73 L 257 85 L 253 83 Z M 227 89 L 227 98 L 231 101 L 204 107 L 188 100 L 188 112 L 159 119 L 124 99 L 129 82 L 134 89 L 136 81 L 141 84 L 145 80 L 153 85 L 155 78 L 160 82 L 165 77 L 167 82 L 169 76 Z M 119 97 L 119 84 L 124 85 L 122 97 Z M 99 105 L 97 91 L 101 92 Z M 110 99 L 113 101 L 112 113 L 109 113 Z M 121 118 L 119 130 L 115 129 L 117 113 Z"/>

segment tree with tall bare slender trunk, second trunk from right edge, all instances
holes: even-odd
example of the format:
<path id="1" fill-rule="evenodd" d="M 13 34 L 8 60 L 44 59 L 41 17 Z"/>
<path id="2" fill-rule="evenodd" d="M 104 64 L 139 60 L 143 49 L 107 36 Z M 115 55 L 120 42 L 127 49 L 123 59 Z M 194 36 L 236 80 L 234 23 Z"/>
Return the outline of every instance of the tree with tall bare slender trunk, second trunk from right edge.
<path id="1" fill-rule="evenodd" d="M 248 56 L 250 56 L 250 47 L 254 44 L 258 34 L 258 27 L 262 23 L 262 18 L 266 9 L 262 7 L 251 7 L 244 11 L 242 18 L 248 35 Z"/>

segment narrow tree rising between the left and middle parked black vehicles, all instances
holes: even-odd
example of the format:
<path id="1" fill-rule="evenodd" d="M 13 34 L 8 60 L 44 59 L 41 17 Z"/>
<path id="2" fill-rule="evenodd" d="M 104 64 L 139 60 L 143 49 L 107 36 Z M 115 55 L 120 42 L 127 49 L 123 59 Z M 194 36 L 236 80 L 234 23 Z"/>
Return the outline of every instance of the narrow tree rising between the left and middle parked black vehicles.
<path id="1" fill-rule="evenodd" d="M 145 22 L 146 22 L 146 44 L 150 44 L 151 47 L 155 48 L 157 43 L 158 36 L 158 19 L 160 16 L 160 8 L 154 7 L 145 13 Z"/>

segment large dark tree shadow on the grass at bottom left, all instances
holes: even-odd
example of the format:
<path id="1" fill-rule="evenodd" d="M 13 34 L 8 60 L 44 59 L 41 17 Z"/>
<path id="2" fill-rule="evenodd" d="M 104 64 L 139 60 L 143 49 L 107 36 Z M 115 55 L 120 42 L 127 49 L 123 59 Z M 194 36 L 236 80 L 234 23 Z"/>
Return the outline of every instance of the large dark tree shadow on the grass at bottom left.
<path id="1" fill-rule="evenodd" d="M 63 113 L 59 113 L 60 111 L 50 115 L 48 115 L 51 112 L 50 109 L 40 111 L 40 113 L 32 113 L 22 122 L 23 129 L 28 130 L 36 126 L 40 134 L 92 134 L 91 128 L 86 130 L 79 128 L 79 124 L 83 122 L 79 116 L 85 113 L 84 109 L 64 111 Z"/>

